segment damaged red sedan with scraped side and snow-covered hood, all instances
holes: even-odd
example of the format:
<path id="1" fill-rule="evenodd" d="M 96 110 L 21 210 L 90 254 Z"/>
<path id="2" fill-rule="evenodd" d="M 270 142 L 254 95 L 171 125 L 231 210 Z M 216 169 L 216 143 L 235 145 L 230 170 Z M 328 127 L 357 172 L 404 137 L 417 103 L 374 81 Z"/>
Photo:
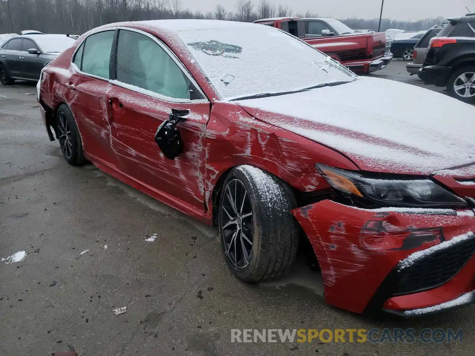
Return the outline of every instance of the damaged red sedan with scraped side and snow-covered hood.
<path id="1" fill-rule="evenodd" d="M 308 238 L 334 306 L 411 316 L 475 300 L 466 103 L 213 20 L 95 28 L 38 84 L 70 164 L 218 225 L 243 281 L 280 277 Z"/>

